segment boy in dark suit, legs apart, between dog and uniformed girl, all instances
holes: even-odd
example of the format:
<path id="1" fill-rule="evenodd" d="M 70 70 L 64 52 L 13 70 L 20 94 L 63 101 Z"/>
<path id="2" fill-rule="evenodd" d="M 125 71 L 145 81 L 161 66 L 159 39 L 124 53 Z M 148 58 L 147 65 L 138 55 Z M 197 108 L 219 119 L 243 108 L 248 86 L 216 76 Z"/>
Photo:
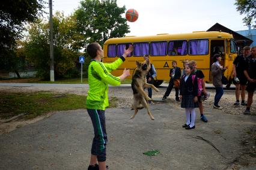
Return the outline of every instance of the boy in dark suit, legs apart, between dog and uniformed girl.
<path id="1" fill-rule="evenodd" d="M 179 67 L 177 67 L 177 61 L 175 61 L 175 60 L 172 61 L 172 69 L 170 69 L 169 77 L 171 77 L 171 79 L 169 81 L 169 85 L 166 89 L 165 95 L 163 95 L 163 100 L 166 100 L 166 98 L 171 93 L 171 90 L 174 86 L 174 81 L 180 82 L 181 70 Z M 176 101 L 180 101 L 180 99 L 178 97 L 178 88 L 179 87 L 174 87 Z"/>

